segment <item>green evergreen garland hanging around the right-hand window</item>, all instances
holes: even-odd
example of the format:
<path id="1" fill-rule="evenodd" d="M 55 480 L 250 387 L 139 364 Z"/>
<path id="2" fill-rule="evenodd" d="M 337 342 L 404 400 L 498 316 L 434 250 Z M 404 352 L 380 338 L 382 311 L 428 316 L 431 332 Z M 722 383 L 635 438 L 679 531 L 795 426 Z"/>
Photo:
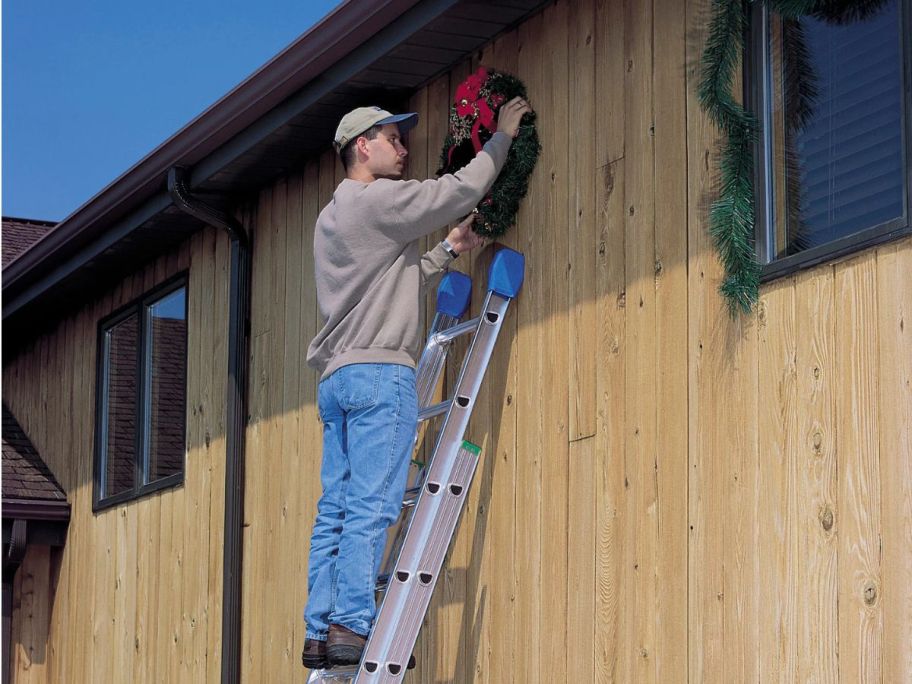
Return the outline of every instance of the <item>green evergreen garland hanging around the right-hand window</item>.
<path id="1" fill-rule="evenodd" d="M 709 233 L 725 269 L 719 291 L 730 313 L 749 314 L 760 291 L 760 264 L 754 251 L 753 150 L 759 124 L 735 101 L 732 83 L 740 65 L 747 33 L 747 13 L 754 2 L 765 3 L 786 22 L 813 17 L 834 24 L 866 19 L 890 0 L 713 0 L 712 19 L 701 63 L 698 97 L 703 110 L 723 134 L 719 162 L 719 197 L 712 204 Z M 800 26 L 800 25 L 799 25 Z M 803 34 L 796 31 L 802 43 Z M 816 97 L 815 76 L 803 44 L 789 49 L 789 85 L 796 120 L 805 120 Z M 794 123 L 794 122 L 793 122 Z"/>

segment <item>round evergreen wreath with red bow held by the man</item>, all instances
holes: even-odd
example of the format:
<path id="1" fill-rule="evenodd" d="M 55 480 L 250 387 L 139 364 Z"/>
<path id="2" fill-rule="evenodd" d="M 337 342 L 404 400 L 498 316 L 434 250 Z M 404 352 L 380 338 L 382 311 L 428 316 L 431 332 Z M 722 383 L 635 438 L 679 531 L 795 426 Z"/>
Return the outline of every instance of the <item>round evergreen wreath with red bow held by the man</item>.
<path id="1" fill-rule="evenodd" d="M 450 108 L 438 176 L 458 171 L 472 161 L 497 131 L 497 113 L 501 105 L 516 96 L 526 97 L 522 81 L 484 67 L 459 84 L 456 100 Z M 516 220 L 520 200 L 529 189 L 529 176 L 540 151 L 535 113 L 524 114 L 503 170 L 475 208 L 472 230 L 484 237 L 499 237 L 507 232 Z"/>

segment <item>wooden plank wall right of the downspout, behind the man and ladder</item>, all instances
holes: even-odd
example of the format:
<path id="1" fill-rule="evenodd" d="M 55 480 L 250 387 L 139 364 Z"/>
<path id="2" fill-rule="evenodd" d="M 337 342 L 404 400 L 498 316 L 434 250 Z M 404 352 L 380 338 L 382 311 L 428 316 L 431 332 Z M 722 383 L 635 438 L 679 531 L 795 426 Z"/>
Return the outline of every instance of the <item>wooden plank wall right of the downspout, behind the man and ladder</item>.
<path id="1" fill-rule="evenodd" d="M 708 9 L 561 0 L 409 102 L 413 177 L 479 63 L 523 79 L 543 143 L 502 240 L 526 284 L 412 681 L 912 681 L 912 242 L 777 280 L 729 317 L 695 98 Z M 340 177 L 327 152 L 258 200 L 245 681 L 304 676 L 311 245 Z M 455 267 L 480 289 L 489 261 Z"/>

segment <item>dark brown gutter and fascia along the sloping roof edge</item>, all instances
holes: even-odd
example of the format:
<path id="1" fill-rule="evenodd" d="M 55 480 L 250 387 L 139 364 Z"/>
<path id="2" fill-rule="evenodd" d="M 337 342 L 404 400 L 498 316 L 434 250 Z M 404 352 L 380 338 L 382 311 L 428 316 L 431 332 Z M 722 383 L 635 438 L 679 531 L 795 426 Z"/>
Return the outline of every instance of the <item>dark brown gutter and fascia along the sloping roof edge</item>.
<path id="1" fill-rule="evenodd" d="M 421 2 L 347 0 L 334 9 L 11 262 L 3 271 L 4 300 L 27 287 L 36 272 L 52 272 L 114 221 L 141 211 L 143 202 L 163 191 L 168 169 L 196 164 Z M 159 204 L 151 211 L 170 201 Z"/>

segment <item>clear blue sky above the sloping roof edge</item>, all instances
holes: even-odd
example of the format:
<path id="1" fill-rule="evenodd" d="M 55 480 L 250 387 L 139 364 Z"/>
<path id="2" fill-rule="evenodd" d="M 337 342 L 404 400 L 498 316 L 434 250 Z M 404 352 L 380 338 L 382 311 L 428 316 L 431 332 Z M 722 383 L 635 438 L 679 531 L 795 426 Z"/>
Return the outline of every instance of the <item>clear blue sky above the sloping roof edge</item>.
<path id="1" fill-rule="evenodd" d="M 59 221 L 339 0 L 2 0 L 3 215 Z"/>

